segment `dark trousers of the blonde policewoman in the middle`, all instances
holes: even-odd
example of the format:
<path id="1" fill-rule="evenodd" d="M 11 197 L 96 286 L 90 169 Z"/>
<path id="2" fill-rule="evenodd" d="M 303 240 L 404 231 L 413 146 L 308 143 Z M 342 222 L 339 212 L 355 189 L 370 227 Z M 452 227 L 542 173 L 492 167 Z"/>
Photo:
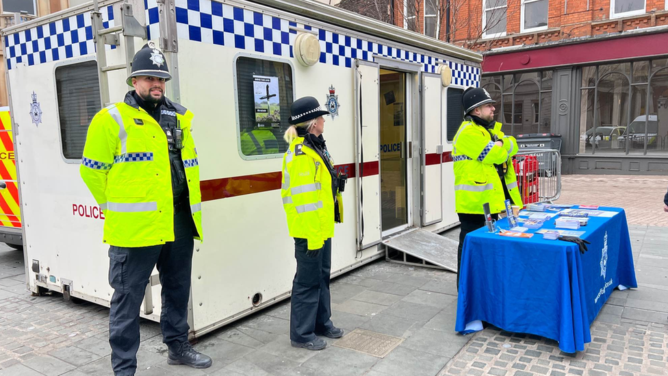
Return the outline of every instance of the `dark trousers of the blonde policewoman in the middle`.
<path id="1" fill-rule="evenodd" d="M 306 239 L 294 238 L 294 258 L 297 272 L 292 280 L 290 299 L 290 340 L 309 342 L 317 334 L 323 334 L 334 327 L 332 301 L 329 292 L 329 277 L 332 267 L 332 240 L 325 240 L 324 246 L 313 257 L 307 255 Z"/>

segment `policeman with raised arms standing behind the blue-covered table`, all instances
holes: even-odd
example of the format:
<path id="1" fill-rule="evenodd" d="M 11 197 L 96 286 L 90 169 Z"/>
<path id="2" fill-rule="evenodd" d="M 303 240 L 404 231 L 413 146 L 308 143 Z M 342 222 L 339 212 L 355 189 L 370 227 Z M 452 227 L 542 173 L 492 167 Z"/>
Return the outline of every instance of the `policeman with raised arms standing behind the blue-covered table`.
<path id="1" fill-rule="evenodd" d="M 455 210 L 461 223 L 457 249 L 457 289 L 461 250 L 466 234 L 485 225 L 483 204 L 494 217 L 505 209 L 504 200 L 522 206 L 511 158 L 517 141 L 505 136 L 494 121 L 494 103 L 487 90 L 467 88 L 462 96 L 464 121 L 452 141 Z"/>

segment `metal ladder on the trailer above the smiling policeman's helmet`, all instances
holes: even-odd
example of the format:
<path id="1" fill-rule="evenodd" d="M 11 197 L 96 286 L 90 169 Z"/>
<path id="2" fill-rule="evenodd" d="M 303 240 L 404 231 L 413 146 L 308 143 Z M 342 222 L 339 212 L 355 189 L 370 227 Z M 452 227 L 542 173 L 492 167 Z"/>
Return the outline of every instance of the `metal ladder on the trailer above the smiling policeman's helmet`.
<path id="1" fill-rule="evenodd" d="M 120 25 L 104 28 L 102 25 L 102 12 L 98 0 L 93 0 L 94 10 L 90 12 L 92 21 L 93 40 L 95 42 L 95 53 L 97 55 L 97 75 L 100 82 L 100 99 L 102 107 L 110 105 L 109 79 L 107 73 L 125 68 L 127 74 L 131 72 L 130 63 L 135 55 L 133 38 L 146 40 L 146 27 L 142 26 L 132 13 L 132 4 L 127 0 L 120 5 Z M 116 18 L 118 19 L 118 18 Z M 121 36 L 125 38 L 125 64 L 107 65 L 107 49 L 105 45 L 120 46 Z"/>

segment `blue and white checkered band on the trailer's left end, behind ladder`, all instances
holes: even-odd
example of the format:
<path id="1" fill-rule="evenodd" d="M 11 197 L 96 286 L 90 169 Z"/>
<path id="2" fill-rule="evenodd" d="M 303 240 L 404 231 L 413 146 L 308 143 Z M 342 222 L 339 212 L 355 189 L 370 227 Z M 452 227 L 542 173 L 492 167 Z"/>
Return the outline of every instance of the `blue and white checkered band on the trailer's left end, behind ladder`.
<path id="1" fill-rule="evenodd" d="M 114 26 L 112 5 L 102 12 L 103 27 Z M 115 49 L 108 46 L 107 49 Z M 95 53 L 90 12 L 38 25 L 5 36 L 7 68 L 16 64 L 35 65 Z"/>

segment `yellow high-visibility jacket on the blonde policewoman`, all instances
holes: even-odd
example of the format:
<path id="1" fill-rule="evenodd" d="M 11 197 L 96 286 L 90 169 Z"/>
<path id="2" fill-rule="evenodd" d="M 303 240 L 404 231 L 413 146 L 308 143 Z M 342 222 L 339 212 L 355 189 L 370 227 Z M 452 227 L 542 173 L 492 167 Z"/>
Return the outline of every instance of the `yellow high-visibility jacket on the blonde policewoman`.
<path id="1" fill-rule="evenodd" d="M 309 249 L 320 249 L 334 236 L 334 194 L 332 177 L 318 153 L 304 145 L 304 138 L 292 140 L 283 155 L 281 197 L 287 228 L 293 238 L 308 240 Z M 337 192 L 340 214 L 342 199 Z"/>

